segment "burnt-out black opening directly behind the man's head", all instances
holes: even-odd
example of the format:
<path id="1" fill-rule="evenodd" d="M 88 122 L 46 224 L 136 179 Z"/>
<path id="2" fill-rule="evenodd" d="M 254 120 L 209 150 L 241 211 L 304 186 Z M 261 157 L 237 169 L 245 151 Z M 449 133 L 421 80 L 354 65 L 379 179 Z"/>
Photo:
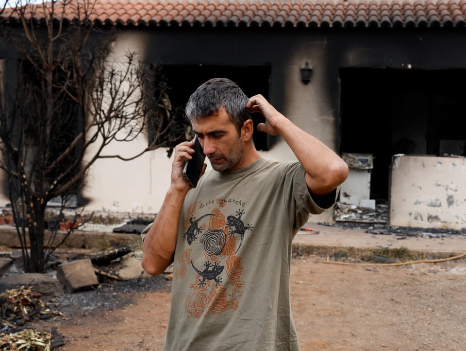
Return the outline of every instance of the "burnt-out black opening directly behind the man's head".
<path id="1" fill-rule="evenodd" d="M 216 77 L 231 79 L 248 97 L 262 94 L 268 99 L 269 95 L 269 66 L 163 65 L 162 73 L 167 80 L 171 104 L 178 108 L 178 113 L 184 113 L 189 96 L 196 88 L 205 81 Z M 265 119 L 261 114 L 254 113 L 252 121 L 256 127 Z M 266 133 L 258 132 L 255 129 L 253 140 L 257 150 L 268 150 L 269 142 Z"/>

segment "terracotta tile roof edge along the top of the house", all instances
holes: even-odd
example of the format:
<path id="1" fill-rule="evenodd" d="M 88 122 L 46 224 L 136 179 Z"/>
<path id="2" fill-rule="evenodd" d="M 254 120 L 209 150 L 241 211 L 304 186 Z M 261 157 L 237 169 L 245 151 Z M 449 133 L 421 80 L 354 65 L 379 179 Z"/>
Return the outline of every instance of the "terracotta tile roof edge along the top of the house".
<path id="1" fill-rule="evenodd" d="M 91 0 L 84 0 L 91 1 Z M 83 2 L 81 2 L 82 4 Z M 87 2 L 97 24 L 174 27 L 465 27 L 466 0 L 98 0 Z M 56 4 L 56 18 L 61 14 Z M 36 7 L 29 18 L 41 21 Z M 10 17 L 11 15 L 11 17 Z M 67 6 L 64 18 L 78 18 Z M 82 16 L 81 16 L 82 17 Z M 1 18 L 15 23 L 7 9 Z"/>

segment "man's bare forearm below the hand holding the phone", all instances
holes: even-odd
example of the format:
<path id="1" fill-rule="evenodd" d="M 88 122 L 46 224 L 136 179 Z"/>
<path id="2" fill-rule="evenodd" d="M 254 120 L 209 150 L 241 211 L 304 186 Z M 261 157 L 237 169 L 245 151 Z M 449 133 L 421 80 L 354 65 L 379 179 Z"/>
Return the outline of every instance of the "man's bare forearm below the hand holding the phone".
<path id="1" fill-rule="evenodd" d="M 172 263 L 185 196 L 185 192 L 168 190 L 164 204 L 144 239 L 142 266 L 149 274 L 163 273 Z"/>

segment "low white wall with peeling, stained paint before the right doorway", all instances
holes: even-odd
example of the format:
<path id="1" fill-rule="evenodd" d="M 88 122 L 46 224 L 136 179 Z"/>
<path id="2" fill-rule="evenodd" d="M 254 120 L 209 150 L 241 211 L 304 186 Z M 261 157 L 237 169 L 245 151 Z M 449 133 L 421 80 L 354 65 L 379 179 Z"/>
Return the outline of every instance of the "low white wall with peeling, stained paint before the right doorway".
<path id="1" fill-rule="evenodd" d="M 466 158 L 395 156 L 390 224 L 466 228 Z"/>

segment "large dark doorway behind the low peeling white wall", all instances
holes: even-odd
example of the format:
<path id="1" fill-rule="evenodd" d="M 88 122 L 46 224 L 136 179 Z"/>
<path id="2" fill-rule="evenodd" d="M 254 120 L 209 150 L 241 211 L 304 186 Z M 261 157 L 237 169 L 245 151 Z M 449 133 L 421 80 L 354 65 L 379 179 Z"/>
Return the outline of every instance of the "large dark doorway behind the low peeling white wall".
<path id="1" fill-rule="evenodd" d="M 370 197 L 388 199 L 395 154 L 464 154 L 466 70 L 341 69 L 340 152 L 374 157 Z"/>

